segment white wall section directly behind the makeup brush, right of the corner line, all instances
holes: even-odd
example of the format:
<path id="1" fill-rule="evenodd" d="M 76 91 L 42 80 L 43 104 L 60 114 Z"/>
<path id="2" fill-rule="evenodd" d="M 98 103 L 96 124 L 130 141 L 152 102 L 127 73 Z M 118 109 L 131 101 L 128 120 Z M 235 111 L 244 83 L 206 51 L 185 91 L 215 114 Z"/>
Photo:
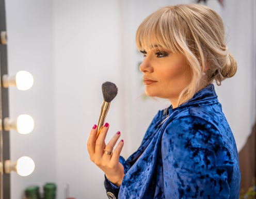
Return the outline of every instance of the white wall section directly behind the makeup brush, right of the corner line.
<path id="1" fill-rule="evenodd" d="M 58 198 L 66 184 L 76 198 L 104 198 L 104 175 L 89 161 L 86 141 L 98 121 L 102 83 L 120 82 L 118 2 L 56 0 L 53 27 Z M 112 135 L 118 102 L 120 95 L 107 118 Z"/>

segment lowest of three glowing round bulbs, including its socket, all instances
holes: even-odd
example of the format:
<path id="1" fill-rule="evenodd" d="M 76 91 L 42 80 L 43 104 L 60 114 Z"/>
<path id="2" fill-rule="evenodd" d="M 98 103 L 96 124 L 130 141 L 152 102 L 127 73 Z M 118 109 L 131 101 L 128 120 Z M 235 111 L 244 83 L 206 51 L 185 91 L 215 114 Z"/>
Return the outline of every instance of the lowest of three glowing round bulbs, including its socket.
<path id="1" fill-rule="evenodd" d="M 21 176 L 28 176 L 35 170 L 35 162 L 27 156 L 20 157 L 17 161 L 5 161 L 4 173 L 17 172 Z"/>

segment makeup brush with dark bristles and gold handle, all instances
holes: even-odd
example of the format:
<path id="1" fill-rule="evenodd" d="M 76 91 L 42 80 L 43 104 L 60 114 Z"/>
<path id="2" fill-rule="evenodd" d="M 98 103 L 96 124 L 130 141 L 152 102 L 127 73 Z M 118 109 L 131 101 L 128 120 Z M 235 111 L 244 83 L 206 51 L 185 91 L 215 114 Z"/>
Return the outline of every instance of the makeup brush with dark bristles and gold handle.
<path id="1" fill-rule="evenodd" d="M 105 118 L 107 115 L 107 111 L 110 106 L 110 102 L 116 97 L 117 90 L 118 90 L 117 86 L 110 81 L 106 81 L 105 83 L 102 84 L 103 102 L 101 105 L 100 118 L 99 118 L 99 121 L 97 124 L 98 132 L 97 132 L 96 138 L 98 138 L 98 136 L 100 134 L 100 130 L 104 124 L 104 121 L 105 121 Z"/>

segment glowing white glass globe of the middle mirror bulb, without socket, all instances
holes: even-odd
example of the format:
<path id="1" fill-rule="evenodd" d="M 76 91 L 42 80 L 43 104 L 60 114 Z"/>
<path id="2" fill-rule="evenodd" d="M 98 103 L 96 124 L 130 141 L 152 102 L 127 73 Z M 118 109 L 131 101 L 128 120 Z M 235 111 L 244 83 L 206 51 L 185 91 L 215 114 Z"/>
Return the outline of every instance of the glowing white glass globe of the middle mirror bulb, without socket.
<path id="1" fill-rule="evenodd" d="M 28 114 L 21 114 L 17 118 L 17 131 L 20 134 L 29 134 L 34 129 L 33 118 Z"/>

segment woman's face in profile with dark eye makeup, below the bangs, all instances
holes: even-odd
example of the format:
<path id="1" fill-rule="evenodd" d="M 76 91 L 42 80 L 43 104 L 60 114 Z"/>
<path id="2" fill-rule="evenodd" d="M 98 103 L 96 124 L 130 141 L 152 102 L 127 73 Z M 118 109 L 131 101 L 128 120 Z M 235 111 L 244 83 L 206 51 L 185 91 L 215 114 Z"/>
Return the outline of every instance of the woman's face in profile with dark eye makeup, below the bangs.
<path id="1" fill-rule="evenodd" d="M 159 47 L 141 53 L 144 60 L 139 69 L 143 73 L 146 94 L 167 98 L 173 108 L 177 107 L 179 94 L 191 81 L 185 57 Z"/>

